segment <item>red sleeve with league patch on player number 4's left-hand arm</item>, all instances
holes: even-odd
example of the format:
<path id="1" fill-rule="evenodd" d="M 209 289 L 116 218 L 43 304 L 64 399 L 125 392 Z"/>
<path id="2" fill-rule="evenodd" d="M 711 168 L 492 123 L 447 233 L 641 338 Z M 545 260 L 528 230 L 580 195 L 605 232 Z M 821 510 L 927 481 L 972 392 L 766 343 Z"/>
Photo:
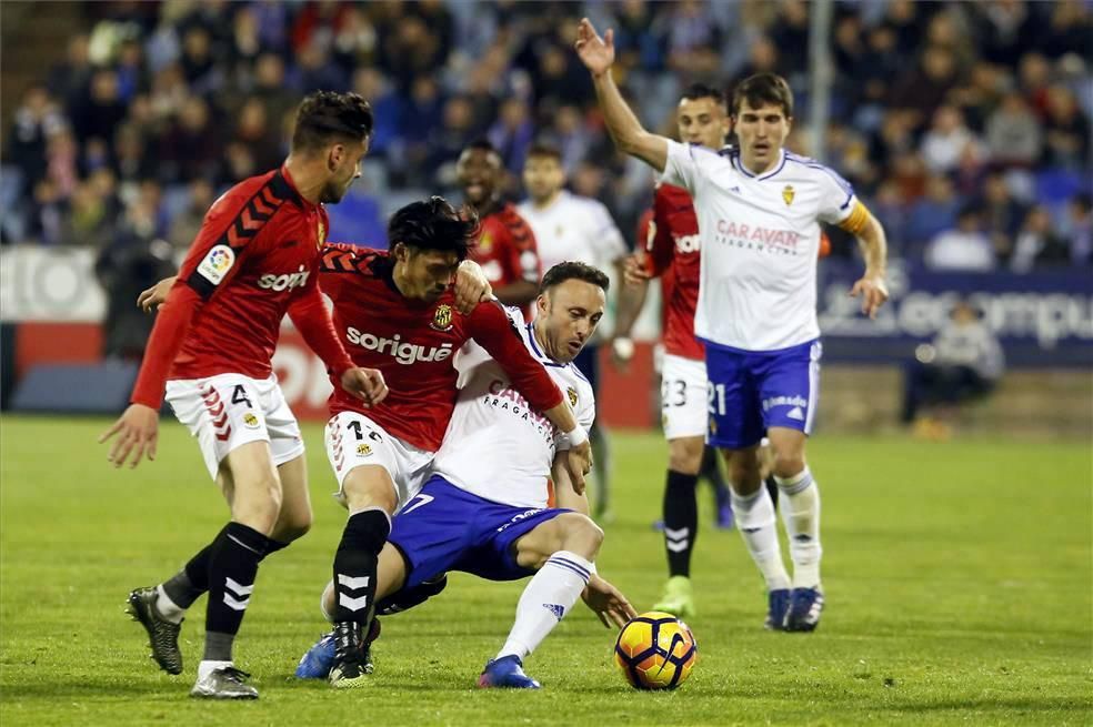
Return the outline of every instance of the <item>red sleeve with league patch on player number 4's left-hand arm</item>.
<path id="1" fill-rule="evenodd" d="M 281 200 L 257 178 L 235 185 L 213 202 L 179 276 L 152 326 L 130 401 L 159 408 L 163 386 L 194 316 L 217 291 L 228 286 L 247 251 L 253 250 Z"/>

